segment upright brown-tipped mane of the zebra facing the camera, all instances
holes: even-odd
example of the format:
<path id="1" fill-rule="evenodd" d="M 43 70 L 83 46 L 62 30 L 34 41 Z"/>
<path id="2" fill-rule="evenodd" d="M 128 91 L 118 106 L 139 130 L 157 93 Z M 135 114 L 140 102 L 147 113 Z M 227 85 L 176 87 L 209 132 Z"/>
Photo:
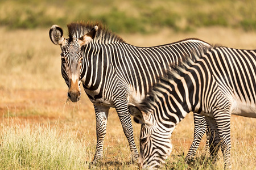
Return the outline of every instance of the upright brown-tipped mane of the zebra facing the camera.
<path id="1" fill-rule="evenodd" d="M 98 22 L 72 22 L 67 24 L 69 41 L 73 39 L 79 39 L 86 33 L 90 32 L 94 26 L 98 26 L 98 31 L 94 37 L 94 42 L 110 43 L 110 42 L 125 42 L 121 37 L 115 35 L 112 31 Z"/>

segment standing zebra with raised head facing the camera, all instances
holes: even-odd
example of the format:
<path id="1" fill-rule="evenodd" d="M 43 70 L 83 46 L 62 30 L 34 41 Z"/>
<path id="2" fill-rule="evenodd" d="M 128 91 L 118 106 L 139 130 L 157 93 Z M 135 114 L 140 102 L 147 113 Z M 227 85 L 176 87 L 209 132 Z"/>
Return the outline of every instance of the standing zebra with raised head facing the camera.
<path id="1" fill-rule="evenodd" d="M 61 74 L 68 86 L 68 97 L 79 101 L 80 83 L 96 113 L 97 146 L 93 162 L 102 159 L 103 142 L 110 107 L 114 107 L 130 145 L 132 161 L 138 159 L 128 103 L 143 99 L 157 77 L 177 63 L 183 55 L 205 53 L 211 46 L 204 41 L 187 39 L 172 44 L 138 47 L 99 23 L 70 23 L 69 37 L 52 25 L 49 37 L 61 48 Z"/>

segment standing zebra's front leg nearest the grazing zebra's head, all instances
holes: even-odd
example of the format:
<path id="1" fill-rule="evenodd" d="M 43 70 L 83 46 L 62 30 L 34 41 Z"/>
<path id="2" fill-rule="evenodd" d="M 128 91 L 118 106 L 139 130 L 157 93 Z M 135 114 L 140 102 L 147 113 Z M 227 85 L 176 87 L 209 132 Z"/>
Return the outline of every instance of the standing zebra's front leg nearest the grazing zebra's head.
<path id="1" fill-rule="evenodd" d="M 120 100 L 115 103 L 115 110 L 117 111 L 119 120 L 121 121 L 123 132 L 129 142 L 131 150 L 131 161 L 136 163 L 139 158 L 139 153 L 133 138 L 133 125 L 131 125 L 131 116 L 128 109 L 127 100 Z"/>

